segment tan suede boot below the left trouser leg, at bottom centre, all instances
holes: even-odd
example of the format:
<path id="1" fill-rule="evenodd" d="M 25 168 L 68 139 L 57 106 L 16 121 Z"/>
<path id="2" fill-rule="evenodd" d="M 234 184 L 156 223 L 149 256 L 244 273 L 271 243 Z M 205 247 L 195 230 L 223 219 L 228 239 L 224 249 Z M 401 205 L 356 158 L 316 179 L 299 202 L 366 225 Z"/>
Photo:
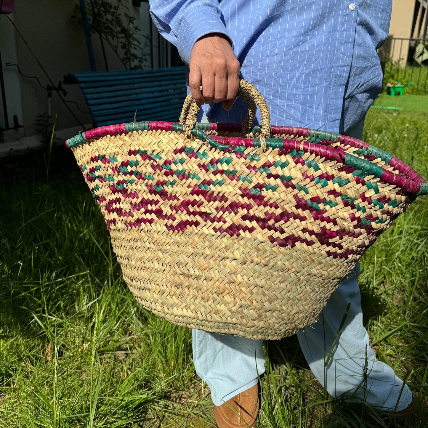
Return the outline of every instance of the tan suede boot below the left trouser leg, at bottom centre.
<path id="1" fill-rule="evenodd" d="M 256 428 L 259 413 L 259 387 L 254 385 L 221 406 L 214 406 L 219 428 Z"/>

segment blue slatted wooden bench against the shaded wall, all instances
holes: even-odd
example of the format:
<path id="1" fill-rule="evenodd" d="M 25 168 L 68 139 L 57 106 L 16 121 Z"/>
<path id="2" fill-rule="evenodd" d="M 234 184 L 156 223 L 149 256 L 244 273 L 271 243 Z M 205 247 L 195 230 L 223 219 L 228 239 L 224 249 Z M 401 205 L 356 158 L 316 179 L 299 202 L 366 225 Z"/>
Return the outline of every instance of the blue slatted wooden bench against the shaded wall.
<path id="1" fill-rule="evenodd" d="M 95 126 L 133 122 L 134 116 L 178 122 L 187 95 L 184 66 L 72 73 L 64 83 L 79 84 Z"/>

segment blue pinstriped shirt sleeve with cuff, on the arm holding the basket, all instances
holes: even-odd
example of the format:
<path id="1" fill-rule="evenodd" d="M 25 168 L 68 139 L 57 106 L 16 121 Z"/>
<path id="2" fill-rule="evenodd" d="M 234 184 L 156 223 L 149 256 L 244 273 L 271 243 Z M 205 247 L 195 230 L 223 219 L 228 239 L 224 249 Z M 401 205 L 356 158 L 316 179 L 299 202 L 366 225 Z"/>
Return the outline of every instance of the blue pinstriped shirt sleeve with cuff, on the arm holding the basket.
<path id="1" fill-rule="evenodd" d="M 178 48 L 187 64 L 196 40 L 210 33 L 232 39 L 226 29 L 218 0 L 149 0 L 150 15 L 159 33 Z"/>

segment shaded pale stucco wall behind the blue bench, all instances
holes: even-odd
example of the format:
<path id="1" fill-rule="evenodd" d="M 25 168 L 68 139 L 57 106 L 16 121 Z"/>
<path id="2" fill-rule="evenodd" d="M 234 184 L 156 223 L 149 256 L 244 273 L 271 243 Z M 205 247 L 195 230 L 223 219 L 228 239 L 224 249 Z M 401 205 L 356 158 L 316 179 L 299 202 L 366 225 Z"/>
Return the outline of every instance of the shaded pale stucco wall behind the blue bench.
<path id="1" fill-rule="evenodd" d="M 140 23 L 140 15 L 145 13 L 141 9 L 143 7 L 148 9 L 148 6 L 142 3 L 140 9 L 132 6 L 132 0 L 128 0 L 128 2 L 129 11 L 137 17 L 137 23 Z M 71 19 L 77 3 L 78 0 L 20 0 L 15 1 L 14 12 L 9 15 L 55 85 L 62 81 L 65 74 L 90 71 L 83 28 L 79 27 L 75 19 Z M 147 34 L 149 33 L 148 28 L 145 31 Z M 15 41 L 13 36 L 15 36 Z M 8 46 L 7 49 L 6 46 Z M 92 46 L 97 70 L 104 70 L 104 59 L 97 35 L 92 36 Z M 14 47 L 15 49 L 13 49 Z M 4 15 L 0 15 L 0 48 L 2 55 L 5 51 L 5 55 L 8 54 L 8 61 L 17 62 L 24 74 L 37 76 L 44 86 L 49 84 L 48 78 L 37 64 L 36 59 Z M 123 69 L 116 54 L 108 46 L 106 46 L 106 51 L 109 69 Z M 24 124 L 24 135 L 33 135 L 36 133 L 34 123 L 36 116 L 48 110 L 47 92 L 39 86 L 36 80 L 20 77 L 16 70 L 6 68 L 5 62 L 6 60 L 3 58 L 3 70 L 9 76 L 8 94 L 12 92 L 14 94 L 7 96 L 8 105 L 9 102 L 11 103 L 11 113 L 12 107 L 15 105 L 13 109 L 18 112 L 15 114 L 18 114 L 20 124 Z M 65 100 L 76 101 L 82 110 L 87 111 L 79 87 L 77 85 L 64 87 L 68 91 Z M 18 98 L 21 98 L 21 102 L 18 102 Z M 22 110 L 20 110 L 20 105 L 22 105 Z M 80 122 L 83 124 L 92 122 L 90 116 L 81 113 L 74 104 L 69 104 L 69 106 Z M 57 129 L 71 128 L 78 123 L 56 93 L 53 93 L 51 98 L 51 111 L 52 114 L 57 114 Z M 3 138 L 10 140 L 12 133 L 13 131 L 9 132 L 9 137 L 6 135 Z"/>

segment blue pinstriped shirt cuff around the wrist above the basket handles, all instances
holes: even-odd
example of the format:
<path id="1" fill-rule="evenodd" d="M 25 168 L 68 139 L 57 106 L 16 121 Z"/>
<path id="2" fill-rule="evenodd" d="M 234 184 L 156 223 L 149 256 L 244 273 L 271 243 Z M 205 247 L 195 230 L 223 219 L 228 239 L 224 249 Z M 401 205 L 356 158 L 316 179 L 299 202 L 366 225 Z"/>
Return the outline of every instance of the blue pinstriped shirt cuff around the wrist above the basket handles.
<path id="1" fill-rule="evenodd" d="M 187 64 L 190 64 L 190 52 L 198 39 L 206 34 L 221 33 L 232 39 L 223 24 L 219 13 L 211 7 L 192 10 L 181 22 L 177 38 L 178 53 Z M 232 45 L 233 46 L 233 45 Z"/>

